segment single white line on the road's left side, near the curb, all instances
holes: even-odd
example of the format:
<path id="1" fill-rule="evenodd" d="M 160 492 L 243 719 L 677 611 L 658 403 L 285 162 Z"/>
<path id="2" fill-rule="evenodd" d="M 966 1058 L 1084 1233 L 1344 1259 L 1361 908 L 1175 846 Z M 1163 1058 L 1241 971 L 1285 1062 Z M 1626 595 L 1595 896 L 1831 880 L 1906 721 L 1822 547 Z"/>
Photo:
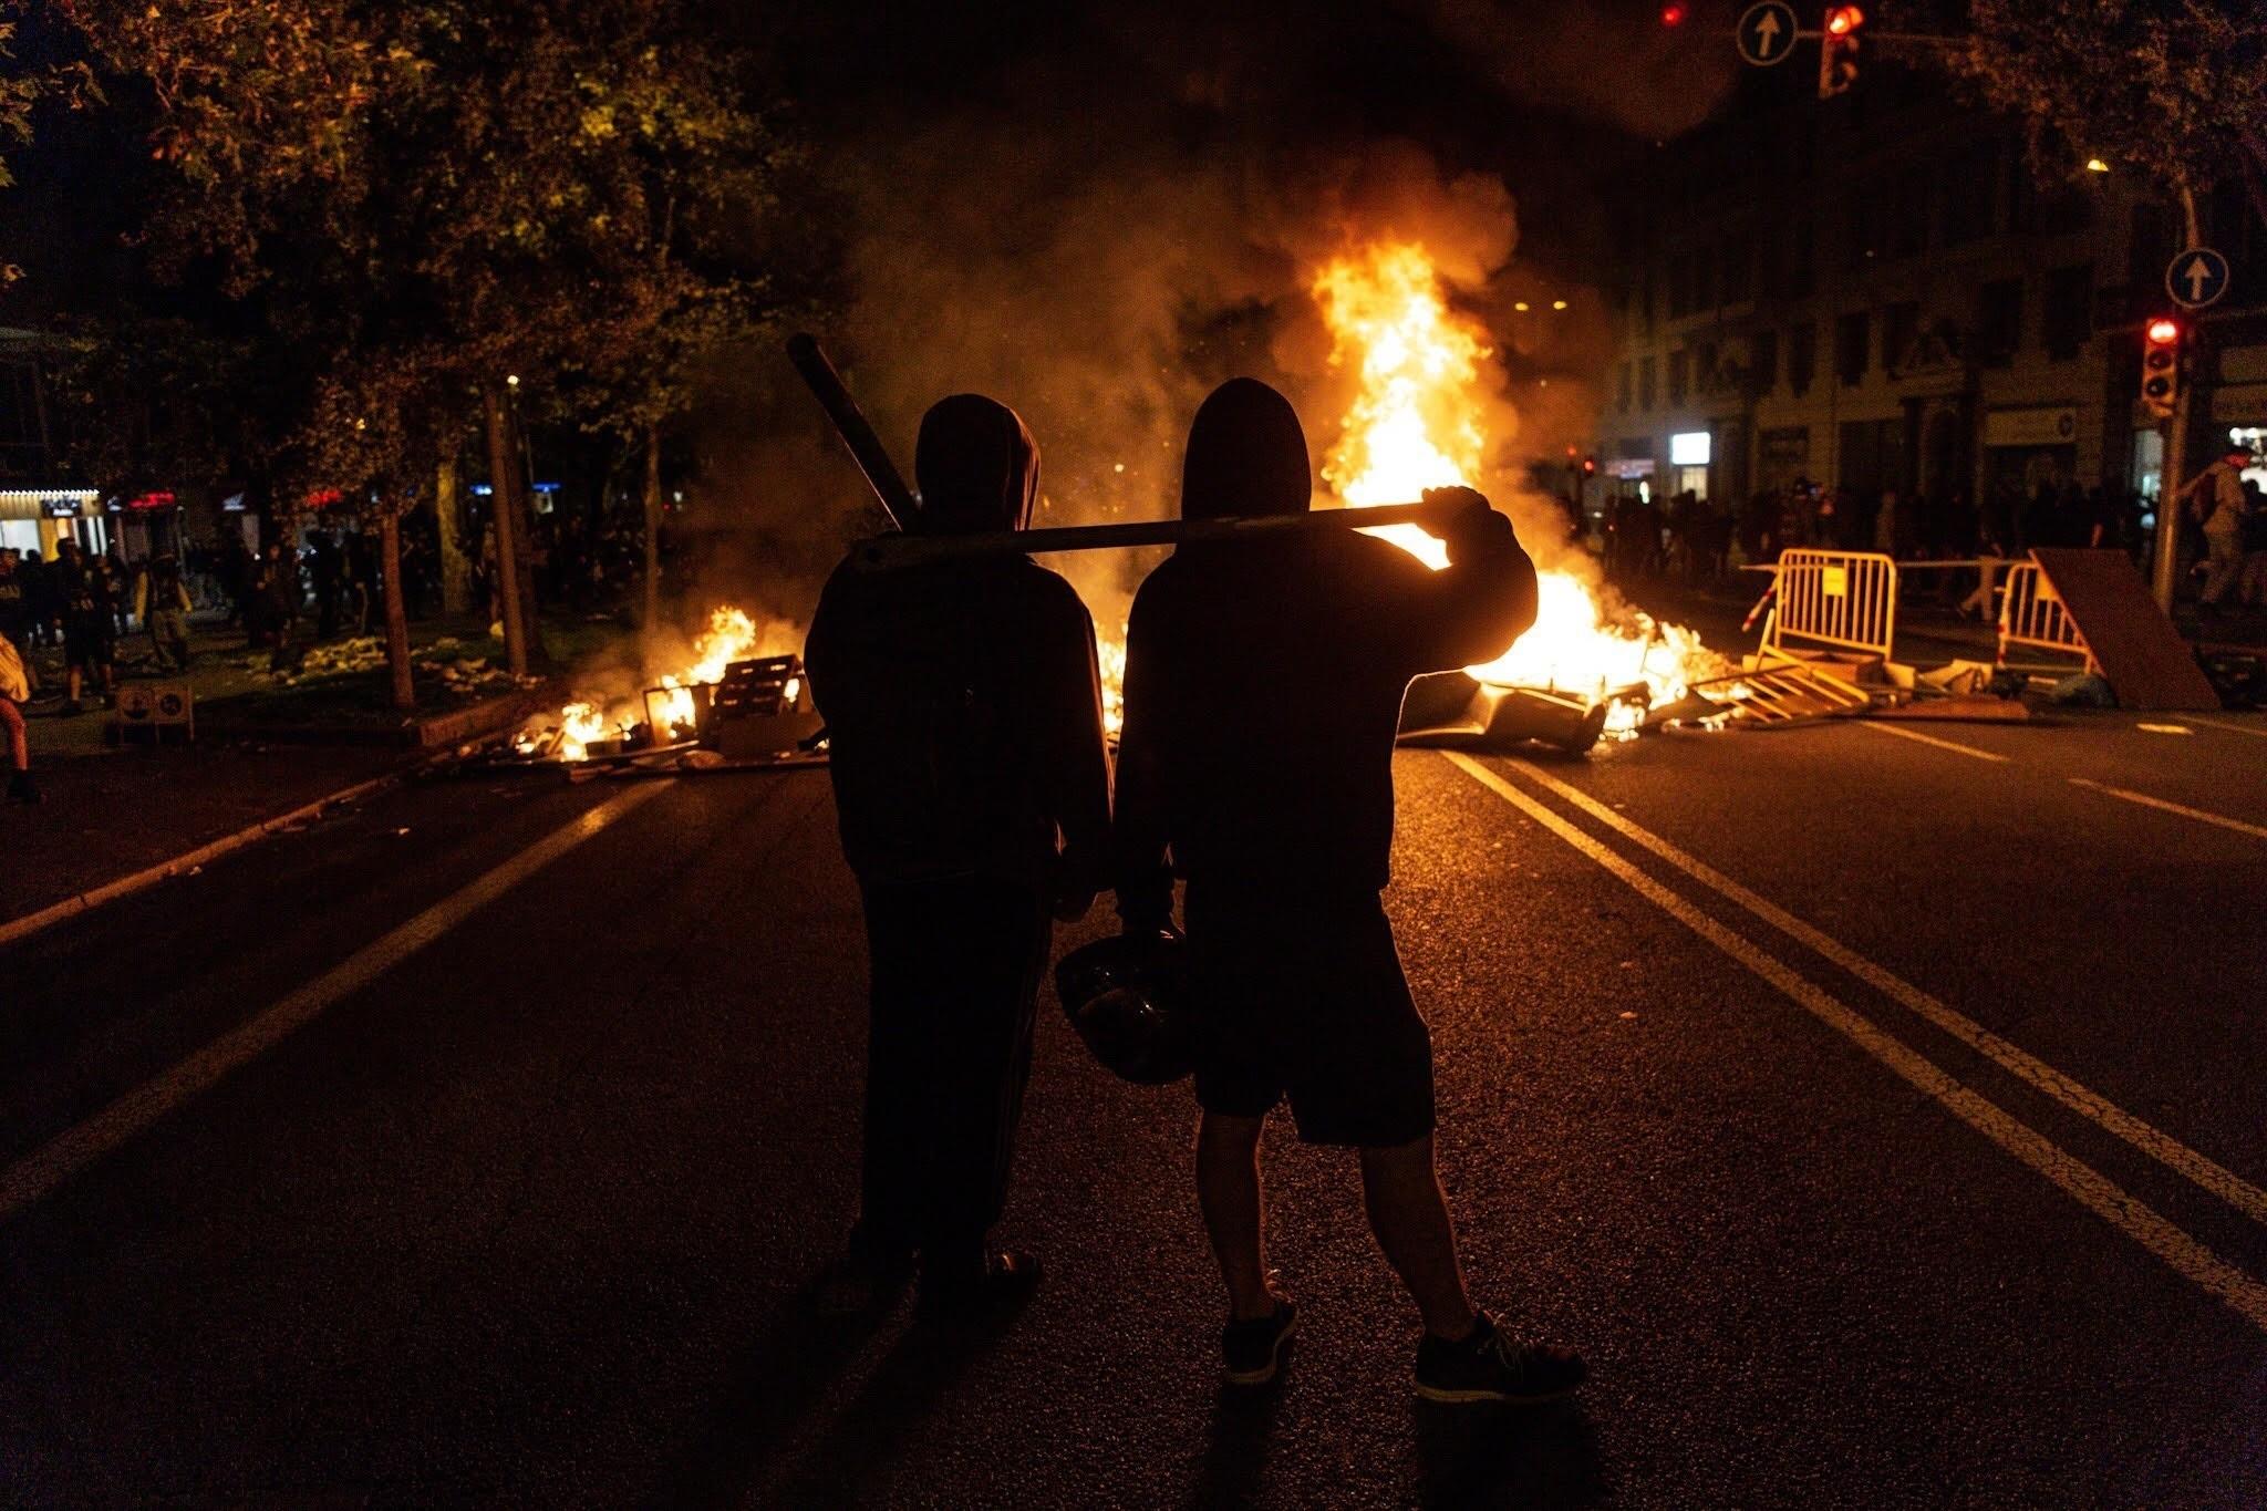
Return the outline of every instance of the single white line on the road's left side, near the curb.
<path id="1" fill-rule="evenodd" d="M 77 1171 L 111 1153 L 175 1108 L 256 1060 L 340 997 L 370 985 L 551 861 L 651 802 L 671 782 L 639 784 L 580 813 L 517 856 L 442 897 L 392 933 L 363 945 L 342 963 L 297 988 L 247 1024 L 231 1028 L 172 1069 L 145 1081 L 86 1121 L 66 1128 L 0 1173 L 0 1221 L 32 1205 Z"/>

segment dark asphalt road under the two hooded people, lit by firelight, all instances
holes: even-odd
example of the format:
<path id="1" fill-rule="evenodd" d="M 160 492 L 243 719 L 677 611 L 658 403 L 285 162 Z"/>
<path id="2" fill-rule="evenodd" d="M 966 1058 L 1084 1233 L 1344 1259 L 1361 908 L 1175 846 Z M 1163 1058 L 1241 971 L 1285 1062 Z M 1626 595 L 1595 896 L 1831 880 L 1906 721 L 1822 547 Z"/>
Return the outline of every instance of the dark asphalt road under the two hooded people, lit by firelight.
<path id="1" fill-rule="evenodd" d="M 1052 1001 L 1038 1298 L 816 1321 L 825 777 L 392 793 L 0 951 L 0 1497 L 2258 1506 L 2267 720 L 2140 723 L 1401 754 L 1474 1287 L 1594 1364 L 1532 1414 L 1412 1400 L 1281 1128 L 1301 1337 L 1224 1393 L 1188 1092 Z"/>

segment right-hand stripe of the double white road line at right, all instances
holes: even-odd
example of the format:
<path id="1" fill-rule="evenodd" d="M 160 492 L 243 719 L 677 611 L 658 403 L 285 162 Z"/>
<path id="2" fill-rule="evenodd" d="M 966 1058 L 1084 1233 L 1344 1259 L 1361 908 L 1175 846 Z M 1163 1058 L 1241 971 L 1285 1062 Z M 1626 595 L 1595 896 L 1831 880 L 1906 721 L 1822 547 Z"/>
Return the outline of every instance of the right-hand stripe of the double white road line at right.
<path id="1" fill-rule="evenodd" d="M 2133 1149 L 2140 1149 L 2151 1160 L 2165 1164 L 2167 1169 L 2188 1176 L 2192 1183 L 2197 1183 L 2219 1201 L 2228 1203 L 2251 1221 L 2267 1223 L 2267 1189 L 2251 1185 L 2249 1180 L 2244 1180 L 2228 1167 L 2219 1164 L 2217 1160 L 2197 1153 L 2194 1149 L 2172 1137 L 2163 1128 L 2145 1124 L 2142 1119 L 2133 1117 L 2102 1092 L 2095 1092 L 2092 1087 L 2072 1081 L 2063 1072 L 2054 1069 L 2045 1060 L 1999 1038 L 1997 1033 L 1993 1033 L 1977 1019 L 1968 1017 L 1959 1008 L 1950 1006 L 1941 997 L 1931 997 L 1929 992 L 1920 990 L 1904 976 L 1882 965 L 1875 965 L 1859 951 L 1836 940 L 1832 933 L 1825 933 L 1823 929 L 1802 922 L 1786 908 L 1780 908 L 1777 904 L 1757 897 L 1739 881 L 1725 877 L 1721 870 L 1712 868 L 1698 856 L 1687 854 L 1684 850 L 1678 850 L 1675 845 L 1653 834 L 1650 829 L 1630 822 L 1628 818 L 1605 806 L 1589 793 L 1560 782 L 1557 777 L 1544 772 L 1542 768 L 1528 761 L 1514 761 L 1514 766 L 1526 777 L 1530 777 L 1539 786 L 1551 788 L 1553 793 L 1557 793 L 1573 806 L 1582 809 L 1598 822 L 1612 827 L 1616 834 L 1623 834 L 1644 845 L 1646 850 L 1650 850 L 1653 854 L 1662 856 L 1664 861 L 1669 861 L 1671 865 L 1675 865 L 1687 877 L 1709 888 L 1725 902 L 1746 908 L 1748 913 L 1764 920 L 1780 933 L 1789 936 L 1791 940 L 1805 945 L 1825 961 L 1850 972 L 1852 976 L 1857 976 L 1873 990 L 1882 992 L 1897 1006 L 1911 1010 L 1916 1017 L 1927 1019 L 1936 1028 L 1956 1038 L 1961 1044 L 1968 1044 L 1970 1049 L 1988 1058 L 1993 1065 L 2015 1076 L 2018 1081 L 2031 1085 L 2038 1092 L 2045 1092 L 2047 1096 L 2063 1103 L 2086 1121 L 2099 1126 L 2106 1133 L 2117 1135 Z"/>

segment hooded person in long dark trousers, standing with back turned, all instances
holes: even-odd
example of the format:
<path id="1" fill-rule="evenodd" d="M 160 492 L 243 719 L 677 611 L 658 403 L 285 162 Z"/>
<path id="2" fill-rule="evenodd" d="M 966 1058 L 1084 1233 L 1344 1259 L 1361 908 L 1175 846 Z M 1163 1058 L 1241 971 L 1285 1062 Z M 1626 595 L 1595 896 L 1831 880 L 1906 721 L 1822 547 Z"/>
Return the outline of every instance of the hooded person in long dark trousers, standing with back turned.
<path id="1" fill-rule="evenodd" d="M 1038 496 L 1031 433 L 977 394 L 923 417 L 914 469 L 929 532 L 1016 530 Z M 1095 625 L 1020 555 L 843 566 L 805 664 L 873 963 L 861 1207 L 832 1300 L 880 1300 L 918 1253 L 925 1314 L 993 1309 L 1038 1280 L 1031 1255 L 993 1250 L 988 1232 L 1050 913 L 1086 913 L 1106 863 Z"/>

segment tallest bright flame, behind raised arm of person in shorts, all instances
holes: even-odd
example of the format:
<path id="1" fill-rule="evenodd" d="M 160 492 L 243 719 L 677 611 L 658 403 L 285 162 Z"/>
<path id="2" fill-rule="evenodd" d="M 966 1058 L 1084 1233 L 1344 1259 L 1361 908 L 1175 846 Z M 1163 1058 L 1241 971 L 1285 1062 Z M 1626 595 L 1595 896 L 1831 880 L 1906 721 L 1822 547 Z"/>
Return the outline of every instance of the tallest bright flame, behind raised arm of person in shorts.
<path id="1" fill-rule="evenodd" d="M 1415 501 L 1428 487 L 1476 485 L 1487 464 L 1476 381 L 1494 356 L 1476 322 L 1449 308 L 1440 272 L 1419 242 L 1378 242 L 1333 258 L 1313 281 L 1331 328 L 1331 365 L 1358 378 L 1322 476 L 1353 507 Z M 1435 571 L 1446 548 L 1417 526 L 1374 530 Z M 1721 671 L 1700 637 L 1635 609 L 1612 623 L 1598 594 L 1562 569 L 1537 573 L 1535 628 L 1503 657 L 1467 666 L 1503 686 L 1546 686 L 1603 700 L 1644 684 L 1653 702 Z M 1614 732 L 1644 709 L 1616 705 Z"/>

